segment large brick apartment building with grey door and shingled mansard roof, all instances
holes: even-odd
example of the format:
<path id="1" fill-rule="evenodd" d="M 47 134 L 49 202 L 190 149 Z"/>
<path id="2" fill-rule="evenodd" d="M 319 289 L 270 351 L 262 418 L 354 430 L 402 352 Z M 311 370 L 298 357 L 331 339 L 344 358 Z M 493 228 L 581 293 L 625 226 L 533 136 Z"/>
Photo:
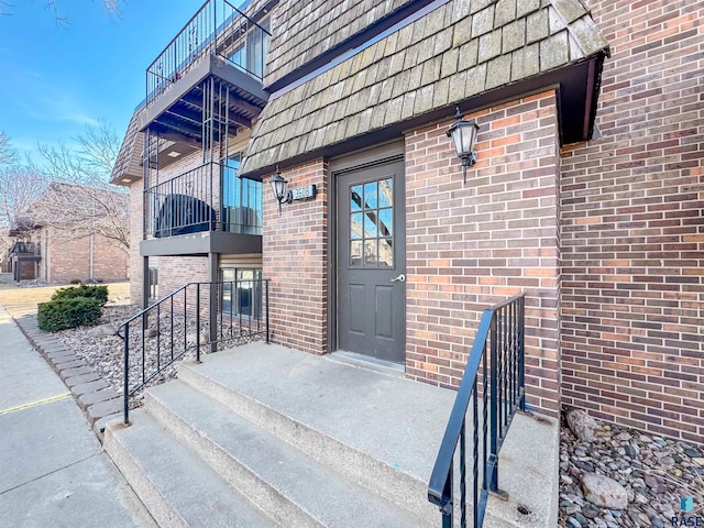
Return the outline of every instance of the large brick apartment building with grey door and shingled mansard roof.
<path id="1" fill-rule="evenodd" d="M 157 257 L 166 294 L 249 262 L 271 279 L 275 341 L 372 355 L 443 386 L 460 381 L 481 310 L 525 292 L 529 405 L 701 441 L 704 2 L 343 6 L 249 4 L 271 19 L 264 75 L 175 72 L 147 94 L 113 172 L 133 211 L 193 172 L 168 162 L 188 147 L 206 164 L 241 154 L 238 175 L 257 182 L 278 167 L 294 188 L 316 185 L 315 199 L 279 213 L 265 185 L 261 253 L 242 239 L 196 249 L 222 231 L 234 182 L 222 169 L 208 234 L 156 240 L 161 212 L 133 216 L 132 267 Z M 215 85 L 249 101 L 220 143 L 178 114 Z M 446 135 L 457 107 L 480 127 L 466 183 Z M 138 143 L 155 145 L 148 164 Z"/>

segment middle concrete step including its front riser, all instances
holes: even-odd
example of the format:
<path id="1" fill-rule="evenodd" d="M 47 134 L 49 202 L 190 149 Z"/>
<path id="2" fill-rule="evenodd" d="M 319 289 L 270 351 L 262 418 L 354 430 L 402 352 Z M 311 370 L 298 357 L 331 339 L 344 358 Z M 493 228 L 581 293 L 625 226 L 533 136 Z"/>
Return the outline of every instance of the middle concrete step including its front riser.
<path id="1" fill-rule="evenodd" d="M 427 526 L 184 383 L 150 389 L 145 408 L 282 526 Z"/>

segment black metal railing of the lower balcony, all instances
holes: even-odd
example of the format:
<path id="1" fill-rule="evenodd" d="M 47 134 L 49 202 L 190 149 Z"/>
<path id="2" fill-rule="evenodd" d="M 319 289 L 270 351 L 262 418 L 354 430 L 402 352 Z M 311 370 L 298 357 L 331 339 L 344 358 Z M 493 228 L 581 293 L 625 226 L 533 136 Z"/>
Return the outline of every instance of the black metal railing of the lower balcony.
<path id="1" fill-rule="evenodd" d="M 234 193 L 242 187 L 249 193 Z M 262 234 L 261 183 L 242 180 L 220 163 L 206 163 L 154 185 L 145 200 L 146 238 L 202 231 Z"/>

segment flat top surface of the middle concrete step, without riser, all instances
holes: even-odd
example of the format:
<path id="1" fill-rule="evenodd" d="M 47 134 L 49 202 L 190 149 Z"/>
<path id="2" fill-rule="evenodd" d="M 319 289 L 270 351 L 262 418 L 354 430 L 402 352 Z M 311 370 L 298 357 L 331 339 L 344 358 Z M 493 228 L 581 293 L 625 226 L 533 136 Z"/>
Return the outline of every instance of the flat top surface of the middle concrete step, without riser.
<path id="1" fill-rule="evenodd" d="M 158 414 L 154 404 L 178 416 L 323 526 L 425 526 L 399 506 L 182 382 L 150 389 L 147 409 Z"/>

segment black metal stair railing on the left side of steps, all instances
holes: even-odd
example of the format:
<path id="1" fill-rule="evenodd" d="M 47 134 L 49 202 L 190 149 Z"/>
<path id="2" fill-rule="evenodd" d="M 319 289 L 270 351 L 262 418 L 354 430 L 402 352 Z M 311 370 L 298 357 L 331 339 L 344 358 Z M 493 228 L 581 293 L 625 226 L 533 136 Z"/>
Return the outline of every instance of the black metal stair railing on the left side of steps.
<path id="1" fill-rule="evenodd" d="M 124 424 L 130 398 L 182 359 L 254 340 L 270 342 L 268 279 L 188 283 L 128 319 L 124 342 Z"/>

